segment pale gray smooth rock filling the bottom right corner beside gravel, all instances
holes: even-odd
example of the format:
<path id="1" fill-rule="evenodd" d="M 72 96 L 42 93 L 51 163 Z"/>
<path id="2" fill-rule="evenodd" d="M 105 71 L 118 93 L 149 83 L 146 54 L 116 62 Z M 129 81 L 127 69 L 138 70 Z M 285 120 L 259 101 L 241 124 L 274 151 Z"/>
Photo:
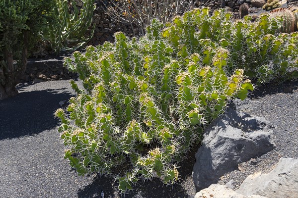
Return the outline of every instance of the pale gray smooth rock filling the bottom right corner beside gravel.
<path id="1" fill-rule="evenodd" d="M 236 192 L 246 196 L 298 198 L 298 159 L 280 158 L 270 173 L 248 176 Z"/>

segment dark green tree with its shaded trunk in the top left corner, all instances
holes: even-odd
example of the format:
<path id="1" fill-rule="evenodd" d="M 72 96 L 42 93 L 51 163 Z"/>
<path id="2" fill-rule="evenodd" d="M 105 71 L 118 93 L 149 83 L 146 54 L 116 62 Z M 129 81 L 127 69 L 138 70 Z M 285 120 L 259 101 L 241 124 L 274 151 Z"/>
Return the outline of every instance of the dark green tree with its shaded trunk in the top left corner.
<path id="1" fill-rule="evenodd" d="M 0 1 L 0 99 L 17 94 L 15 85 L 25 71 L 27 50 L 55 21 L 54 7 L 55 0 Z"/>

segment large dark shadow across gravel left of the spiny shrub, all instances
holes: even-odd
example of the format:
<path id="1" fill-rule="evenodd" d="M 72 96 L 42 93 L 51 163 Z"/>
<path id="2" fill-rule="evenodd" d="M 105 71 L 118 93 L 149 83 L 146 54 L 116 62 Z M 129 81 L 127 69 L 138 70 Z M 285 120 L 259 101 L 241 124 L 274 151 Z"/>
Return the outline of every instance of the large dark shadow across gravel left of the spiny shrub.
<path id="1" fill-rule="evenodd" d="M 22 88 L 20 88 L 22 89 Z M 0 140 L 35 135 L 55 128 L 54 112 L 59 102 L 72 97 L 66 88 L 19 93 L 0 101 Z"/>

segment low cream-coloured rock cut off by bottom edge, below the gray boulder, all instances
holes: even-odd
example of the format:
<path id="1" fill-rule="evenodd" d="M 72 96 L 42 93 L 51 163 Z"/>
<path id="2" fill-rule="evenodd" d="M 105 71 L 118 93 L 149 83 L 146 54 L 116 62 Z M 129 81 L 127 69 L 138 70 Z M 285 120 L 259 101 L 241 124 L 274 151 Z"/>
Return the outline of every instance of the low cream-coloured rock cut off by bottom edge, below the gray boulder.
<path id="1" fill-rule="evenodd" d="M 244 196 L 236 193 L 224 185 L 212 184 L 209 188 L 203 189 L 196 194 L 195 198 L 265 198 L 262 196 L 252 195 Z"/>

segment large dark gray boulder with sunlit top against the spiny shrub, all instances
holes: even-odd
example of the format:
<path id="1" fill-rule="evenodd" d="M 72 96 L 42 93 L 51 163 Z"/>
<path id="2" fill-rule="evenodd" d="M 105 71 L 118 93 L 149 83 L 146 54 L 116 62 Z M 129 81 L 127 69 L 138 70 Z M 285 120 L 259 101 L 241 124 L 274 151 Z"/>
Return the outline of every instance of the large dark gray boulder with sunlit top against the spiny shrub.
<path id="1" fill-rule="evenodd" d="M 272 125 L 265 119 L 227 109 L 204 131 L 196 153 L 193 180 L 197 191 L 208 188 L 238 164 L 273 149 Z"/>

